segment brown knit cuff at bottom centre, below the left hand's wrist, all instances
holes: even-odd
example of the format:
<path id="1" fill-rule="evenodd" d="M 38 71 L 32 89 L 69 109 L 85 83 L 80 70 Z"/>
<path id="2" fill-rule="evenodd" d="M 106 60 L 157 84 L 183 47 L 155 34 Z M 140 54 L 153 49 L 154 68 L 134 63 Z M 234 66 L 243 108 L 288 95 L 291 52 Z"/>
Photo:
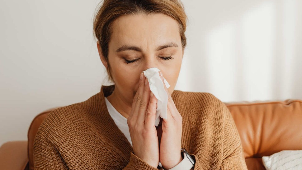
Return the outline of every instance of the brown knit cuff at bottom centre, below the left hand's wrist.
<path id="1" fill-rule="evenodd" d="M 149 165 L 143 159 L 137 157 L 133 152 L 130 152 L 130 161 L 123 170 L 158 170 L 157 168 Z"/>

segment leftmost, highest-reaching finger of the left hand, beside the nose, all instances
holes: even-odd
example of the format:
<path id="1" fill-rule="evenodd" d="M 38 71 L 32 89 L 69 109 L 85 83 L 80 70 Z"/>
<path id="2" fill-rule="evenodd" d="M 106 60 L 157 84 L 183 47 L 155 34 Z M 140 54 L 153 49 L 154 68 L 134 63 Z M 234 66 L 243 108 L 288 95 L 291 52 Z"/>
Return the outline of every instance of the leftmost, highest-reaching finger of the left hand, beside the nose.
<path id="1" fill-rule="evenodd" d="M 140 73 L 140 78 L 139 78 L 139 88 L 136 91 L 136 94 L 134 96 L 133 102 L 132 102 L 132 107 L 131 107 L 131 112 L 129 117 L 133 117 L 133 119 L 136 121 L 137 116 L 138 116 L 138 109 L 139 109 L 139 103 L 140 100 L 142 99 L 142 95 L 144 92 L 144 83 L 145 81 L 145 76 L 144 73 Z"/>

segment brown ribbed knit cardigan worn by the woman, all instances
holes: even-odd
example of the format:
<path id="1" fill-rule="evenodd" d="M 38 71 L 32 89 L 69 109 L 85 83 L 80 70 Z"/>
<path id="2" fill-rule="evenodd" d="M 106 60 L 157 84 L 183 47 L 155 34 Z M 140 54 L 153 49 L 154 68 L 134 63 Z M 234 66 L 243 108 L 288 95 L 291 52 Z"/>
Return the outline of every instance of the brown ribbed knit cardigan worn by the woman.
<path id="1" fill-rule="evenodd" d="M 157 170 L 133 153 L 109 115 L 105 97 L 114 85 L 84 102 L 60 107 L 36 134 L 35 169 Z M 196 161 L 195 170 L 247 169 L 238 130 L 223 102 L 210 93 L 171 94 L 182 115 L 182 148 Z"/>

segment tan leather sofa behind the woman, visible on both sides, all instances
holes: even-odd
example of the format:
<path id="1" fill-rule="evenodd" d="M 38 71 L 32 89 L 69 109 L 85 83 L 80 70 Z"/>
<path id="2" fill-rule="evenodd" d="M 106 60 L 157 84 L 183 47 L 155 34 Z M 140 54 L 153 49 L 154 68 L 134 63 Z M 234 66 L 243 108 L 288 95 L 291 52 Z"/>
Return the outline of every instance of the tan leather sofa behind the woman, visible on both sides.
<path id="1" fill-rule="evenodd" d="M 302 149 L 302 100 L 225 103 L 238 128 L 248 169 L 265 169 L 261 157 L 281 150 Z M 28 141 L 0 147 L 0 169 L 33 169 L 33 141 L 45 117 L 37 115 L 28 130 Z"/>

